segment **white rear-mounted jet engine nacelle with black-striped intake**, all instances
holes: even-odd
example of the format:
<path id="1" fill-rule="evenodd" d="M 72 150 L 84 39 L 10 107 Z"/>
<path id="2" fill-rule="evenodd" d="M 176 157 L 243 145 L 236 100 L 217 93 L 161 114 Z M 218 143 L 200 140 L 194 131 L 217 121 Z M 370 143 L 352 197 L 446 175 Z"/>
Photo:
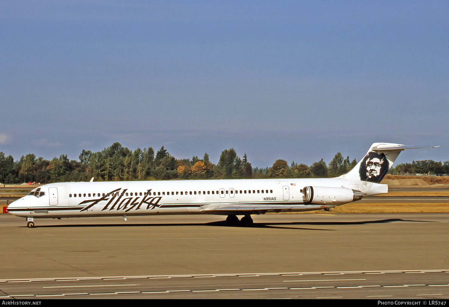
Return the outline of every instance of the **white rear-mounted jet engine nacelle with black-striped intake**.
<path id="1" fill-rule="evenodd" d="M 347 188 L 304 187 L 303 201 L 308 204 L 343 205 L 362 198 L 360 191 Z"/>

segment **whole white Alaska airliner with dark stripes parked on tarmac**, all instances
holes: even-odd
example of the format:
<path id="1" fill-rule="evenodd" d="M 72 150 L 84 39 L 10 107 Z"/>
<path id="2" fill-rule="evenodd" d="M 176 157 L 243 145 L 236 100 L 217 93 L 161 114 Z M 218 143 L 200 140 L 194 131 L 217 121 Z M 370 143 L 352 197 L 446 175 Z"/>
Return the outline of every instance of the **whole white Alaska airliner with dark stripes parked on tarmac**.
<path id="1" fill-rule="evenodd" d="M 387 193 L 380 184 L 402 150 L 439 146 L 374 143 L 348 173 L 336 178 L 62 182 L 45 184 L 12 202 L 27 219 L 92 216 L 215 214 L 229 225 L 251 225 L 266 212 L 329 210 Z M 243 215 L 239 221 L 237 215 Z"/>

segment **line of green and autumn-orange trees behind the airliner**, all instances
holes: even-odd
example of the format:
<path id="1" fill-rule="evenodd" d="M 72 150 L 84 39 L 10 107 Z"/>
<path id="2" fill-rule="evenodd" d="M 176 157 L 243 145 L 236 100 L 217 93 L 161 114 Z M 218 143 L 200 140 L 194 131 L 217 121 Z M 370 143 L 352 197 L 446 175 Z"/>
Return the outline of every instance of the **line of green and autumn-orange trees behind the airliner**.
<path id="1" fill-rule="evenodd" d="M 11 155 L 0 152 L 0 182 L 18 184 L 23 182 L 96 181 L 118 180 L 172 180 L 172 179 L 225 179 L 225 178 L 309 178 L 343 175 L 357 164 L 349 157 L 336 153 L 329 164 L 321 159 L 308 166 L 304 163 L 278 159 L 272 167 L 253 168 L 245 153 L 240 158 L 235 149 L 221 152 L 219 161 L 202 158 L 176 159 L 162 146 L 156 153 L 152 147 L 134 151 L 115 142 L 109 147 L 92 153 L 83 149 L 79 160 L 69 160 L 66 154 L 46 160 L 29 153 L 14 161 Z M 449 161 L 432 160 L 402 163 L 390 170 L 415 173 L 449 173 Z"/>

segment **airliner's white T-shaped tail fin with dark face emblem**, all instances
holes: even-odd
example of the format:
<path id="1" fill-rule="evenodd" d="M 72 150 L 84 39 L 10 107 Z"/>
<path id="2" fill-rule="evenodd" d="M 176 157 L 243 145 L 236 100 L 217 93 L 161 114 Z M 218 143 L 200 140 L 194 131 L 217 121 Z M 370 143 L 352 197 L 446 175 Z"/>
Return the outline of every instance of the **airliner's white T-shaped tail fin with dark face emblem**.
<path id="1" fill-rule="evenodd" d="M 357 165 L 339 178 L 379 183 L 393 167 L 399 153 L 405 149 L 435 148 L 440 146 L 409 146 L 392 143 L 374 143 Z"/>

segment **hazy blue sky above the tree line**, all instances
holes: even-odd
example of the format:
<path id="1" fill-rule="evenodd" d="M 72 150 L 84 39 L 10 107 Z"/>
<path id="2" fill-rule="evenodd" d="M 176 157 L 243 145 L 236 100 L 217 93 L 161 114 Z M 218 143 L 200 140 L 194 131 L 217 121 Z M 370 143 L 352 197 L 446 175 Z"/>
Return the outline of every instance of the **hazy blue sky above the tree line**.
<path id="1" fill-rule="evenodd" d="M 9 1 L 0 151 L 449 160 L 447 1 Z"/>

